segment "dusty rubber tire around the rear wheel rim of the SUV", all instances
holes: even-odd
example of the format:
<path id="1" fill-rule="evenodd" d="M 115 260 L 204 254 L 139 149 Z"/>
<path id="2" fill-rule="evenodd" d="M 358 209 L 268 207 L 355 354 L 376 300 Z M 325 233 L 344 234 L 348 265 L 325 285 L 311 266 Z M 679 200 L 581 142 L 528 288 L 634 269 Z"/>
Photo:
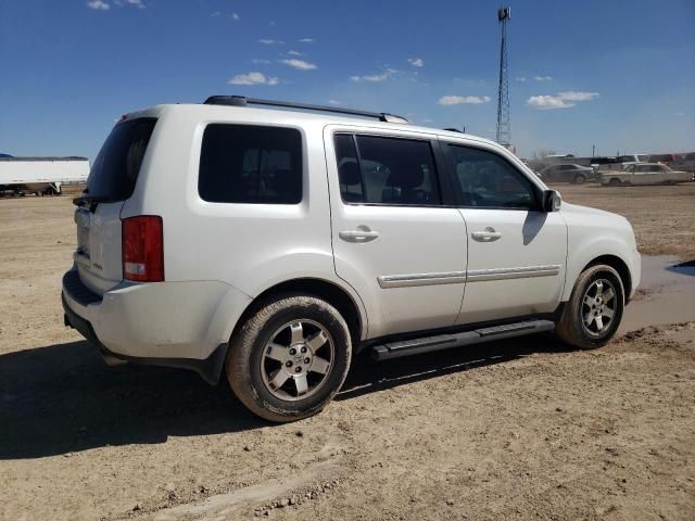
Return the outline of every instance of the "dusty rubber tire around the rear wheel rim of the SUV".
<path id="1" fill-rule="evenodd" d="M 323 377 L 325 380 L 321 380 L 315 390 L 309 389 L 313 394 L 308 397 L 300 398 L 296 385 L 298 395 L 282 399 L 273 391 L 282 392 L 282 386 L 293 385 L 293 381 L 290 382 L 288 380 L 281 387 L 269 389 L 270 384 L 264 381 L 264 378 L 269 379 L 265 364 L 274 360 L 267 359 L 266 354 L 269 351 L 266 352 L 266 348 L 268 342 L 276 340 L 277 332 L 282 331 L 283 327 L 302 321 L 305 328 L 317 325 L 327 333 L 328 342 L 332 345 L 330 365 Z M 292 345 L 298 344 L 291 344 L 287 348 Z M 226 372 L 235 395 L 249 410 L 266 420 L 288 422 L 316 415 L 328 405 L 348 376 L 351 357 L 350 330 L 340 313 L 315 296 L 289 295 L 265 304 L 232 335 L 227 353 Z M 298 366 L 300 365 L 302 361 L 298 363 Z M 308 378 L 311 368 L 306 367 L 304 366 L 304 369 Z M 282 370 L 282 364 L 277 370 Z M 318 377 L 320 378 L 320 374 Z M 312 378 L 317 378 L 317 374 L 312 373 Z"/>

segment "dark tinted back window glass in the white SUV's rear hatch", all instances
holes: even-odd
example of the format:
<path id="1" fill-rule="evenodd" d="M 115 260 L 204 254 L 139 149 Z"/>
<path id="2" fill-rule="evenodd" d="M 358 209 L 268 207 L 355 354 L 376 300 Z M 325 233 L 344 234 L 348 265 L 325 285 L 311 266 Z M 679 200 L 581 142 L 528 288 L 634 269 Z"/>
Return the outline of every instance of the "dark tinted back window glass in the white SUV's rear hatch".
<path id="1" fill-rule="evenodd" d="M 113 128 L 89 171 L 89 195 L 106 201 L 124 201 L 132 195 L 155 124 L 156 118 L 140 117 Z"/>

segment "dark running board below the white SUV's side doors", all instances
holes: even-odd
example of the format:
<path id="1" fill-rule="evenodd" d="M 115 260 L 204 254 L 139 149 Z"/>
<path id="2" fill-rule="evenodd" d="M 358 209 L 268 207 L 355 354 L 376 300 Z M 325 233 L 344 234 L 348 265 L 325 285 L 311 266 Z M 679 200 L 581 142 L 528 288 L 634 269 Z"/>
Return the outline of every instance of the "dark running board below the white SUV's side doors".
<path id="1" fill-rule="evenodd" d="M 463 333 L 438 334 L 434 336 L 425 336 L 421 339 L 375 345 L 371 348 L 371 357 L 375 360 L 389 360 L 401 356 L 480 344 L 482 342 L 491 342 L 493 340 L 522 336 L 525 334 L 540 333 L 543 331 L 553 331 L 554 329 L 555 322 L 551 320 L 526 320 L 523 322 L 493 326 Z"/>

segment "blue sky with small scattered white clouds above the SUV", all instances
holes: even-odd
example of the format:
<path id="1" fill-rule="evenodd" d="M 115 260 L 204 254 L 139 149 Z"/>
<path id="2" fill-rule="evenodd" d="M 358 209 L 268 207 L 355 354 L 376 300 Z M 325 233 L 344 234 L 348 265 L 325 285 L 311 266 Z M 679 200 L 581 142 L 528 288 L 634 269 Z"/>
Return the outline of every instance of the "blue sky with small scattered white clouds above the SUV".
<path id="1" fill-rule="evenodd" d="M 695 150 L 695 1 L 508 3 L 519 155 Z M 93 158 L 121 114 L 222 93 L 493 138 L 497 7 L 0 0 L 0 152 Z"/>

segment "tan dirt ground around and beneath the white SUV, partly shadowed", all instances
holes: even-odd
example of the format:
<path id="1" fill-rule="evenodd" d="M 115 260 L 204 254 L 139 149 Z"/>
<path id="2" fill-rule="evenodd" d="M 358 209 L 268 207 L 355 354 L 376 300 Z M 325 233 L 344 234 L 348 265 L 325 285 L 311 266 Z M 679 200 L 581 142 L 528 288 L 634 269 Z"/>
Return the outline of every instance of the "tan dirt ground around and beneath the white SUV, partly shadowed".
<path id="1" fill-rule="evenodd" d="M 695 258 L 695 186 L 557 188 L 627 215 L 643 252 Z M 602 350 L 359 356 L 323 414 L 274 425 L 192 372 L 106 367 L 63 327 L 70 198 L 0 199 L 0 224 L 2 520 L 695 519 L 695 271 L 675 257 L 646 263 Z"/>

